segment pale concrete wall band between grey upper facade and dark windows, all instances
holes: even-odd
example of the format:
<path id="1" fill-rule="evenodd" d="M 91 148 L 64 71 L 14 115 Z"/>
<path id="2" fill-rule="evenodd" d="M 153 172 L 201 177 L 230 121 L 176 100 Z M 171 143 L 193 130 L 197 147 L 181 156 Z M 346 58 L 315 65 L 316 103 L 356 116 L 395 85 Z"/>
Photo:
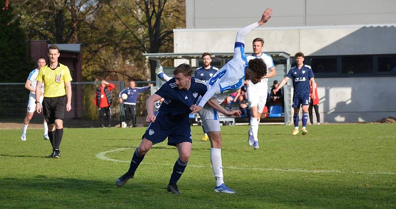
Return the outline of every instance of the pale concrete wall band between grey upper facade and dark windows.
<path id="1" fill-rule="evenodd" d="M 394 54 L 395 26 L 260 27 L 247 35 L 246 51 L 251 52 L 251 41 L 261 37 L 265 51 L 285 51 L 292 55 L 298 51 L 307 56 Z M 232 52 L 238 30 L 174 29 L 174 52 Z"/>

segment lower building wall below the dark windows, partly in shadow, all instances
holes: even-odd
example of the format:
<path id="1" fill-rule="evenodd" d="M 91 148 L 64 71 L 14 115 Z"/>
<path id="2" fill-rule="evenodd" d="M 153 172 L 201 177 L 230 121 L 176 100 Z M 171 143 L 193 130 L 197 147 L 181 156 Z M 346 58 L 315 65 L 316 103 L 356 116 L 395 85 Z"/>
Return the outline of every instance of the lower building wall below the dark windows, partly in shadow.
<path id="1" fill-rule="evenodd" d="M 396 77 L 317 78 L 316 82 L 321 122 L 373 122 L 396 116 Z"/>

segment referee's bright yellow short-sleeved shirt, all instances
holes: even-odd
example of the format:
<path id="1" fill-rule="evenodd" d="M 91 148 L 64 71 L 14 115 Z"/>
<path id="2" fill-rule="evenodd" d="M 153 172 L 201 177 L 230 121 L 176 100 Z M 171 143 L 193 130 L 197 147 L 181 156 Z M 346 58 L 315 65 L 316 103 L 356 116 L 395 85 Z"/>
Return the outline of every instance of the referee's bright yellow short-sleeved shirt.
<path id="1" fill-rule="evenodd" d="M 58 63 L 55 69 L 51 69 L 49 65 L 40 69 L 36 81 L 44 81 L 44 97 L 63 96 L 66 94 L 65 83 L 72 81 L 69 68 Z"/>

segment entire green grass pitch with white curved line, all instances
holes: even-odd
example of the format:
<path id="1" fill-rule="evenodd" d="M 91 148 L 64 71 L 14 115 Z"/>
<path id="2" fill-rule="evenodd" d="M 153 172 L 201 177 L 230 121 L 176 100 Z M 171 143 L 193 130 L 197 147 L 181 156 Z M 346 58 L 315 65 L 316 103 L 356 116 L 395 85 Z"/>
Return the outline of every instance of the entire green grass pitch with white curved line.
<path id="1" fill-rule="evenodd" d="M 177 150 L 155 145 L 123 187 L 144 128 L 69 128 L 62 157 L 47 159 L 42 130 L 0 130 L 0 208 L 396 208 L 396 124 L 260 125 L 260 149 L 247 145 L 248 126 L 225 126 L 223 167 L 235 195 L 214 193 L 209 141 L 192 127 L 193 151 L 178 182 L 166 192 Z"/>

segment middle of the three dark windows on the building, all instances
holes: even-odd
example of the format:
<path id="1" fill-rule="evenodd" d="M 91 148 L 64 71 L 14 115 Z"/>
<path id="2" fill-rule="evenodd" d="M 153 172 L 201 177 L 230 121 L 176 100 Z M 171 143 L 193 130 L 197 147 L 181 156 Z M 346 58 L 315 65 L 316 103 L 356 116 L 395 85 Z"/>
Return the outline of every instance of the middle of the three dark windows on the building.
<path id="1" fill-rule="evenodd" d="M 344 56 L 341 58 L 342 74 L 366 74 L 373 72 L 373 56 Z"/>

